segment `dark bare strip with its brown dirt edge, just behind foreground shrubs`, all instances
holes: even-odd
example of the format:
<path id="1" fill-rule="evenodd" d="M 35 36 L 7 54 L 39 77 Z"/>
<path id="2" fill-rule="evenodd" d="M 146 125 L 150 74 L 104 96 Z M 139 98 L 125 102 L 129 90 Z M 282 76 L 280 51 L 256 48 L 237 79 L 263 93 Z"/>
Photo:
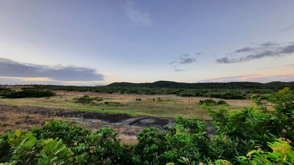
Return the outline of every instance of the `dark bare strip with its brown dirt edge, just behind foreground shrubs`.
<path id="1" fill-rule="evenodd" d="M 157 127 L 160 131 L 163 131 L 165 125 L 171 127 L 175 122 L 173 119 L 167 118 L 105 114 L 29 106 L 0 105 L 0 113 L 2 114 L 0 122 L 6 123 L 6 125 L 4 124 L 1 128 L 2 131 L 15 129 L 29 130 L 31 127 L 42 127 L 46 121 L 51 121 L 59 117 L 65 121 L 78 123 L 92 131 L 96 131 L 100 127 L 112 127 L 113 130 L 119 132 L 119 138 L 122 138 L 125 142 L 136 142 L 136 135 L 143 128 Z M 24 128 L 20 128 L 18 126 L 20 124 Z M 208 124 L 208 130 L 211 133 L 215 133 L 211 123 Z"/>

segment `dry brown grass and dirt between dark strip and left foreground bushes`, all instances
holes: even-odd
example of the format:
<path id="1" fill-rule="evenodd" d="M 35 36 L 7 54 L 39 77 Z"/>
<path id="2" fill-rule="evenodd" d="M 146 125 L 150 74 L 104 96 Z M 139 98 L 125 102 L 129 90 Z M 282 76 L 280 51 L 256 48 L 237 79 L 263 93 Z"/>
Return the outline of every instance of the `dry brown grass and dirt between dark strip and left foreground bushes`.
<path id="1" fill-rule="evenodd" d="M 0 113 L 0 122 L 7 123 L 1 128 L 2 132 L 13 129 L 29 130 L 31 127 L 42 127 L 46 121 L 51 121 L 56 117 L 65 121 L 78 123 L 93 131 L 98 130 L 100 127 L 112 127 L 120 133 L 121 137 L 129 137 L 130 140 L 136 140 L 137 133 L 142 130 L 142 127 L 130 127 L 117 123 L 116 121 L 119 120 L 116 120 L 116 118 L 123 118 L 119 118 L 121 116 L 113 114 L 7 105 L 0 105 Z M 109 116 L 109 118 L 107 118 L 107 116 Z M 97 119 L 99 117 L 101 117 L 101 119 Z M 124 115 L 124 117 L 127 118 L 128 116 Z M 23 128 L 17 126 L 20 124 L 27 125 L 27 127 Z"/>

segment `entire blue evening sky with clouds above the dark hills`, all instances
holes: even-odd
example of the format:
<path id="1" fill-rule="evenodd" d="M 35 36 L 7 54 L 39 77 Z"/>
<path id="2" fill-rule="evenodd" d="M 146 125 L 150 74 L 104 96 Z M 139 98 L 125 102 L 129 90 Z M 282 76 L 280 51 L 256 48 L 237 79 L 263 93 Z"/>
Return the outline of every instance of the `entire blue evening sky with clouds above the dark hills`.
<path id="1" fill-rule="evenodd" d="M 0 0 L 0 84 L 291 82 L 293 6 Z"/>

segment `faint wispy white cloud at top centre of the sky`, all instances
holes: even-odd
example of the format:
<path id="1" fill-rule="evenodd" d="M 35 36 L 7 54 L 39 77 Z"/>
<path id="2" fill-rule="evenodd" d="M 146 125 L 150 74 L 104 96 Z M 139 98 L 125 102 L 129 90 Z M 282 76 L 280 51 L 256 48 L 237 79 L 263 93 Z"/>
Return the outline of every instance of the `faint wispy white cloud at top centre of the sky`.
<path id="1" fill-rule="evenodd" d="M 123 6 L 126 16 L 135 24 L 146 26 L 153 25 L 150 14 L 135 8 L 135 4 L 135 1 L 126 1 Z"/>

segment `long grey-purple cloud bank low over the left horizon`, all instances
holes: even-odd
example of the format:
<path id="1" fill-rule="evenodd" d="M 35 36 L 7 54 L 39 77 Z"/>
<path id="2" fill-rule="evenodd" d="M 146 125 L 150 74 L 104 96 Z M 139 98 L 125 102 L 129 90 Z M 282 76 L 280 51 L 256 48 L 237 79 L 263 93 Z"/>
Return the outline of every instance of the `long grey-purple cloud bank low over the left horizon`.
<path id="1" fill-rule="evenodd" d="M 41 80 L 51 81 L 103 81 L 105 76 L 88 67 L 35 65 L 0 58 L 0 77 L 44 78 Z"/>

